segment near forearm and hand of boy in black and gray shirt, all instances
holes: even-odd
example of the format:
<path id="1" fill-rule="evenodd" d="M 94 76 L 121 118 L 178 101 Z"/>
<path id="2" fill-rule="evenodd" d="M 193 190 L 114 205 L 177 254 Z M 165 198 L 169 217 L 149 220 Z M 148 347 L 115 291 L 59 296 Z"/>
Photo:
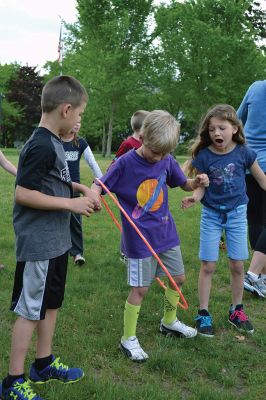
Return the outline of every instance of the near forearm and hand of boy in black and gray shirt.
<path id="1" fill-rule="evenodd" d="M 38 210 L 71 211 L 76 214 L 86 215 L 87 217 L 94 213 L 95 202 L 92 197 L 84 196 L 69 199 L 66 197 L 49 196 L 38 190 L 27 189 L 19 185 L 17 185 L 15 191 L 15 201 L 22 206 Z"/>

